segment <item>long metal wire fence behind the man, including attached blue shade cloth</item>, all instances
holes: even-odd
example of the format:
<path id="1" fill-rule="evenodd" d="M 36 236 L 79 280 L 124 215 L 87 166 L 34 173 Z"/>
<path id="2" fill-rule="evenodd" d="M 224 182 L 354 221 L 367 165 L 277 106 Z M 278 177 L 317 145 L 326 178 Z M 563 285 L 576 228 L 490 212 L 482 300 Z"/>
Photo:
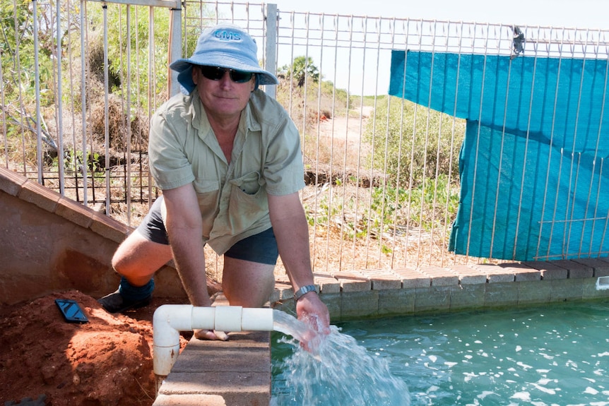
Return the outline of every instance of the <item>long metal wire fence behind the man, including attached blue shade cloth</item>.
<path id="1" fill-rule="evenodd" d="M 261 64 L 280 78 L 267 91 L 300 130 L 316 269 L 609 252 L 608 32 L 225 1 L 127 3 L 13 0 L 0 11 L 0 165 L 137 225 L 159 193 L 148 121 L 175 91 L 172 27 L 189 55 L 203 27 L 230 21 L 256 38 Z M 573 76 L 572 61 L 594 74 Z M 527 67 L 524 76 L 517 69 Z M 556 90 L 565 72 L 566 99 Z M 482 84 L 479 97 L 466 78 Z"/>

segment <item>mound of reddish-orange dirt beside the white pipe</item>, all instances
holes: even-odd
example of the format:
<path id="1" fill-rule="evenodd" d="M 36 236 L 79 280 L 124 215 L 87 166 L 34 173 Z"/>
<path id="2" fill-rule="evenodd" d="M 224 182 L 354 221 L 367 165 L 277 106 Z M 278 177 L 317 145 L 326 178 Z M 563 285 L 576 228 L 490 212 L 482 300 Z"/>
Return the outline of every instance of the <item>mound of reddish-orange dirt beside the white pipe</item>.
<path id="1" fill-rule="evenodd" d="M 57 298 L 78 301 L 89 322 L 66 323 Z M 0 307 L 0 404 L 45 395 L 35 404 L 152 405 L 152 318 L 169 302 L 153 299 L 146 308 L 112 315 L 93 297 L 69 291 Z"/>

